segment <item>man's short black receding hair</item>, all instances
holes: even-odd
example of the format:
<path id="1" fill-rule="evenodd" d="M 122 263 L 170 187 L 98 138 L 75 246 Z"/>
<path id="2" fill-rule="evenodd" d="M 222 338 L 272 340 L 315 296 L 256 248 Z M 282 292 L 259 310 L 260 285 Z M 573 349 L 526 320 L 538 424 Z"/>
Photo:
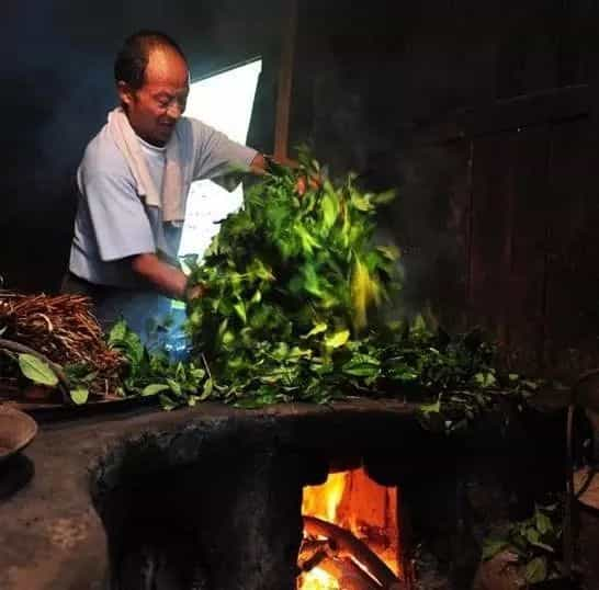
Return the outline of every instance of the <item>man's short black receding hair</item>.
<path id="1" fill-rule="evenodd" d="M 171 48 L 185 61 L 185 54 L 169 35 L 159 31 L 138 31 L 125 39 L 114 60 L 114 81 L 126 82 L 133 90 L 144 86 L 146 67 L 152 49 Z"/>

